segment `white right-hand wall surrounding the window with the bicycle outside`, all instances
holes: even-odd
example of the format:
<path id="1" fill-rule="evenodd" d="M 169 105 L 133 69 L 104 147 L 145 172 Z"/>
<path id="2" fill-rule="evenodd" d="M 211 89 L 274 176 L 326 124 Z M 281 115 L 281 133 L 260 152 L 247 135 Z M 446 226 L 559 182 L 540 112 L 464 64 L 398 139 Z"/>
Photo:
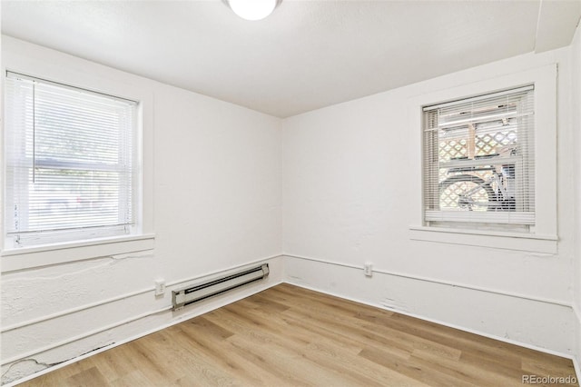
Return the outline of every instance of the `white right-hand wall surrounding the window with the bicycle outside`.
<path id="1" fill-rule="evenodd" d="M 570 51 L 522 55 L 286 119 L 282 217 L 289 282 L 575 353 Z M 409 226 L 416 224 L 409 214 L 421 204 L 415 200 L 419 151 L 410 152 L 419 150 L 420 128 L 409 125 L 410 99 L 555 63 L 558 253 L 410 240 Z M 372 278 L 361 270 L 367 261 L 377 270 Z"/>

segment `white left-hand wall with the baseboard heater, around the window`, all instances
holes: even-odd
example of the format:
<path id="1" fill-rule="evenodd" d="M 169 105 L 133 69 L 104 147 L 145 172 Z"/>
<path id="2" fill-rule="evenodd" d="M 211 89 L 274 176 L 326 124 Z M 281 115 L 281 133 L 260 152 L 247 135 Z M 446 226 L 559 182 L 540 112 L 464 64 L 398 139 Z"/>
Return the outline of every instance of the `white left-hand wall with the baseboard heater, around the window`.
<path id="1" fill-rule="evenodd" d="M 3 257 L 13 264 L 1 278 L 2 382 L 281 282 L 279 119 L 13 38 L 2 43 L 3 68 L 149 95 L 144 180 L 155 233 L 153 249 L 112 254 L 96 246 L 81 262 L 10 270 L 15 260 L 71 253 Z M 185 280 L 255 261 L 271 263 L 268 281 L 182 313 L 168 310 L 170 290 Z M 163 297 L 154 296 L 156 278 L 169 285 Z"/>

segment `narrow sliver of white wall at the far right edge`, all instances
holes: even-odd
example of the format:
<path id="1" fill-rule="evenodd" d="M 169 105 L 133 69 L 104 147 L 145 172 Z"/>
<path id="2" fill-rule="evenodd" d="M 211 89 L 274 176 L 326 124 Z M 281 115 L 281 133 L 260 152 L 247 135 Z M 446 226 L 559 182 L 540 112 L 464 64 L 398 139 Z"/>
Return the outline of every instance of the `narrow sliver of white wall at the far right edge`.
<path id="1" fill-rule="evenodd" d="M 576 364 L 577 372 L 581 372 L 581 25 L 577 26 L 576 35 L 571 45 L 573 71 L 573 132 L 575 163 L 575 194 L 576 194 L 576 249 L 574 255 L 574 308 L 576 311 Z"/>

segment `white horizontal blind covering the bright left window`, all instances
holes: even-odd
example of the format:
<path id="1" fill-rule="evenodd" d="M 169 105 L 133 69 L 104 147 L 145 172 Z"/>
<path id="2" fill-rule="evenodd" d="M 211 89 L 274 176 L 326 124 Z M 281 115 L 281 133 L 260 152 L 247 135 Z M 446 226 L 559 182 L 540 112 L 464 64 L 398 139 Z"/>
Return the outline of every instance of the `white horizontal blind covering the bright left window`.
<path id="1" fill-rule="evenodd" d="M 5 79 L 5 230 L 13 246 L 131 233 L 136 103 Z"/>

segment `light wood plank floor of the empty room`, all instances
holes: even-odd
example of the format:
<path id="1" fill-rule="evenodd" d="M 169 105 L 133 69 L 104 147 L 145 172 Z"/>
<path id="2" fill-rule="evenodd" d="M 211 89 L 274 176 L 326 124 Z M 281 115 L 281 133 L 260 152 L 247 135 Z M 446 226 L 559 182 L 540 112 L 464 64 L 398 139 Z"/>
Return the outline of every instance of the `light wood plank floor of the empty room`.
<path id="1" fill-rule="evenodd" d="M 575 372 L 568 359 L 281 284 L 23 385 L 522 387 L 523 375 Z"/>

